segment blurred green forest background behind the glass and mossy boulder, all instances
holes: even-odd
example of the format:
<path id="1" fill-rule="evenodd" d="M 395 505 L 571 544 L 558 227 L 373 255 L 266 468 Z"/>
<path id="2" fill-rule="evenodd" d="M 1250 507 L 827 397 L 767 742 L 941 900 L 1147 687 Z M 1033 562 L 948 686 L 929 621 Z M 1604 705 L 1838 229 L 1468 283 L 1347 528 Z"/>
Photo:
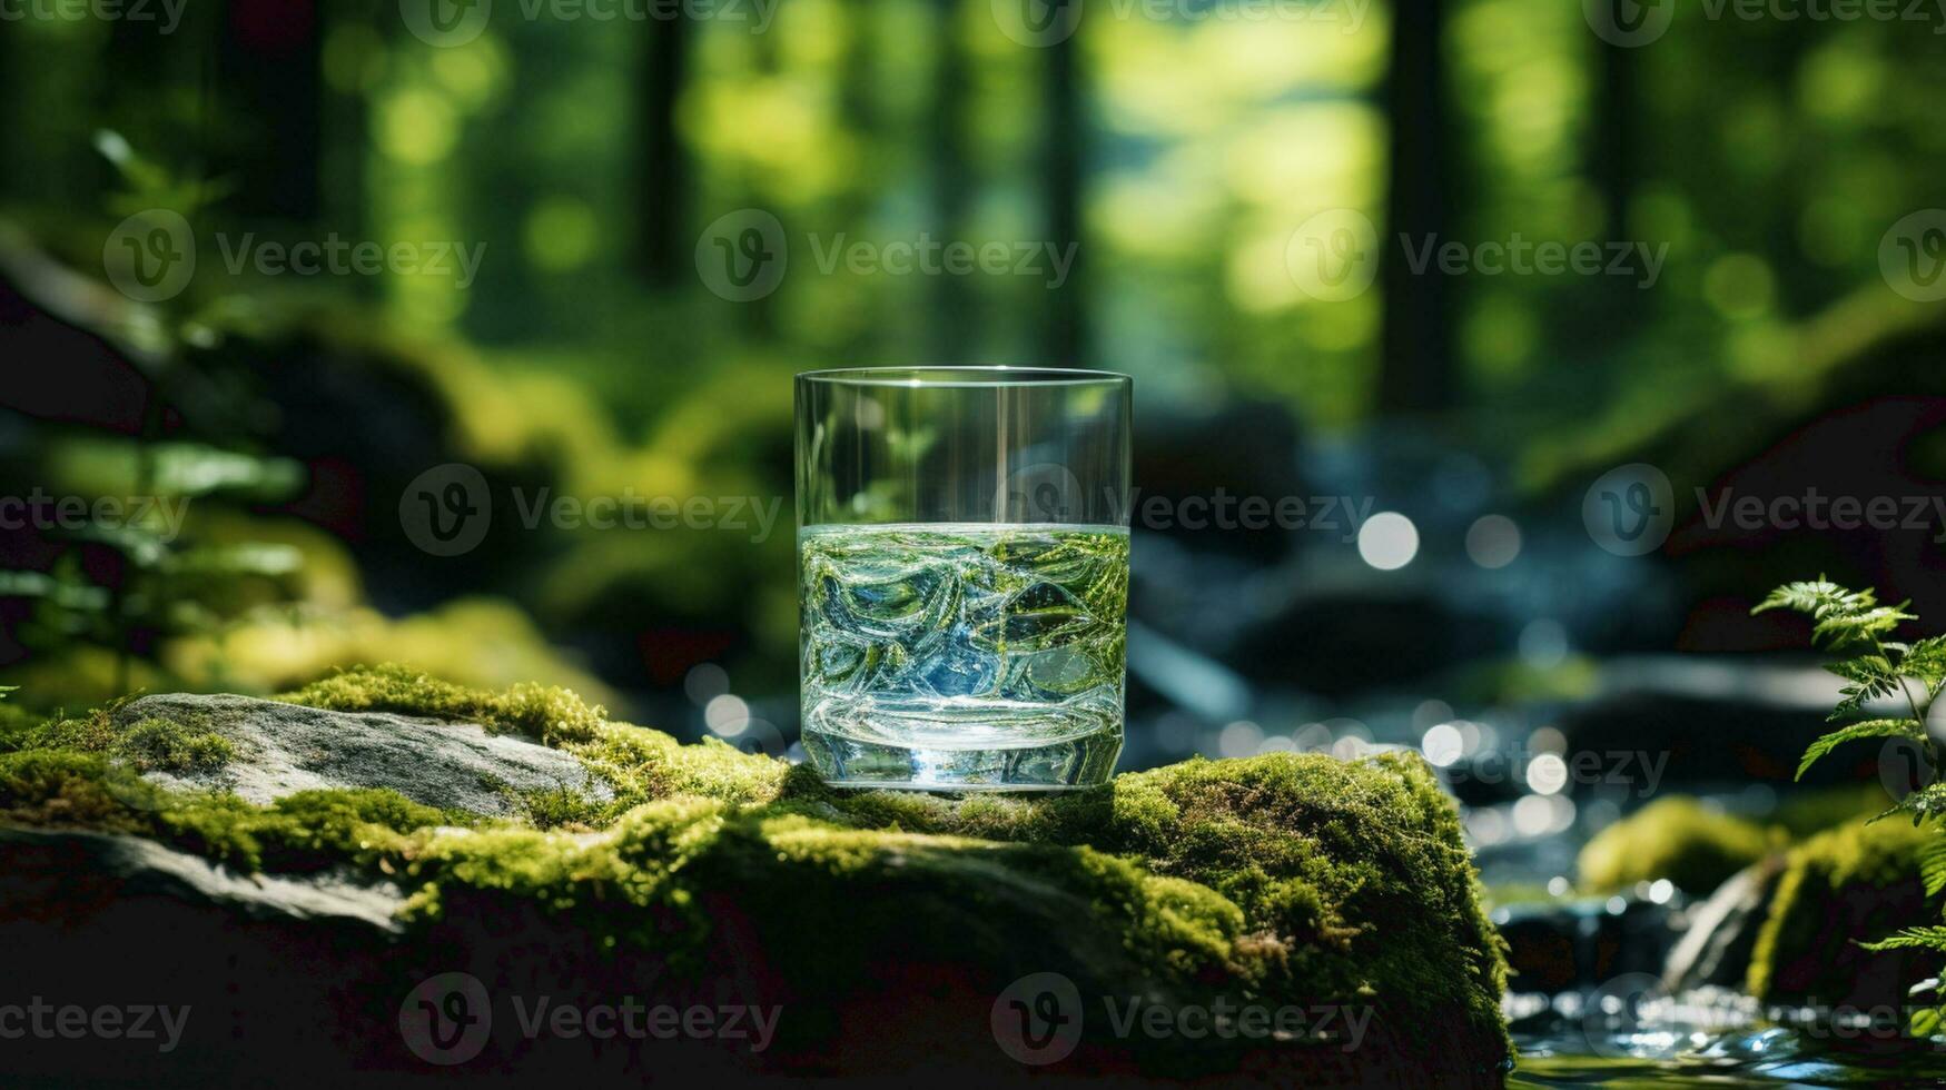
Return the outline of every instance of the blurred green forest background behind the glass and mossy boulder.
<path id="1" fill-rule="evenodd" d="M 786 751 L 790 376 L 913 362 L 1133 374 L 1144 494 L 1409 520 L 1403 564 L 1354 527 L 1138 527 L 1125 767 L 1450 720 L 1481 749 L 1604 699 L 1676 730 L 1701 714 L 1683 701 L 1775 689 L 1734 685 L 1738 656 L 1804 629 L 1748 605 L 1820 570 L 1946 615 L 1936 526 L 1740 529 L 1695 500 L 1940 494 L 1940 304 L 1882 265 L 1893 224 L 1946 206 L 1940 25 L 1685 4 L 1625 47 L 1594 31 L 1602 4 L 1088 0 L 1041 39 L 1022 27 L 1061 8 L 989 0 L 0 21 L 0 492 L 47 516 L 0 529 L 0 683 L 72 710 L 401 660 Z M 152 210 L 191 224 L 197 265 L 140 300 L 111 276 L 119 226 Z M 701 257 L 745 210 L 792 253 L 738 302 Z M 1331 210 L 1382 251 L 1343 300 L 1288 261 Z M 1078 259 L 1051 288 L 813 253 L 920 234 Z M 1415 272 L 1399 234 L 1666 263 L 1652 286 Z M 232 271 L 245 236 L 485 249 L 465 284 L 457 263 Z M 455 557 L 401 518 L 444 463 L 494 500 Z M 1676 533 L 1646 557 L 1582 522 L 1625 463 L 1674 483 Z M 763 541 L 527 529 L 514 489 L 782 512 Z M 60 496 L 187 516 L 45 526 Z M 1784 781 L 1800 745 L 1736 773 Z"/>

